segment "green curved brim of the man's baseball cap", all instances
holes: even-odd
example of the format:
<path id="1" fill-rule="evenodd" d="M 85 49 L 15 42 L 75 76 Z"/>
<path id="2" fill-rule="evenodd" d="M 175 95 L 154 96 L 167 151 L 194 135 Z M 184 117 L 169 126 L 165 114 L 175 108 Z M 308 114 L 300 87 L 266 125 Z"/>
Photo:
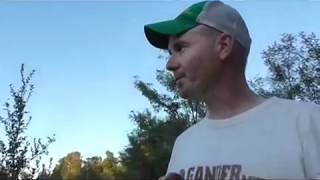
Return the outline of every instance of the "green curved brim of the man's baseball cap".
<path id="1" fill-rule="evenodd" d="M 195 22 L 175 19 L 144 26 L 144 33 L 153 46 L 168 49 L 170 36 L 178 36 L 196 26 Z"/>

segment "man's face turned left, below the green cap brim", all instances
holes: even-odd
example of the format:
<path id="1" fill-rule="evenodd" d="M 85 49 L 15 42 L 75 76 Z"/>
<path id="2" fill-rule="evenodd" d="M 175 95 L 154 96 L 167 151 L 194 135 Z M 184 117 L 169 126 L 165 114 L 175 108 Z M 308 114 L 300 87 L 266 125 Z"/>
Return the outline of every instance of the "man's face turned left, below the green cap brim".
<path id="1" fill-rule="evenodd" d="M 179 93 L 186 99 L 204 100 L 221 76 L 215 47 L 218 33 L 206 28 L 200 25 L 169 39 L 167 69 L 173 72 Z"/>

